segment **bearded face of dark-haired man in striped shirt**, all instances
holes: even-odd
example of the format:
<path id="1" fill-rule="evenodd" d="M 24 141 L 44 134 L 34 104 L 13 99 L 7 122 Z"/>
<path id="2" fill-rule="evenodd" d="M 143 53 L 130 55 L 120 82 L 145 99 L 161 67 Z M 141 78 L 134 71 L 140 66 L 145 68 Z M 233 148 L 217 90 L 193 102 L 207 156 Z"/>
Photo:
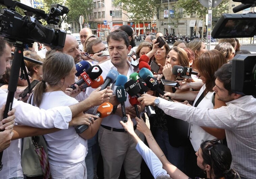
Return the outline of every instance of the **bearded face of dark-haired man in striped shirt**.
<path id="1" fill-rule="evenodd" d="M 226 90 L 223 86 L 223 83 L 219 81 L 217 78 L 215 80 L 215 86 L 213 87 L 213 90 L 215 91 L 218 100 L 228 102 L 234 100 L 232 93 L 231 95 L 228 94 L 228 90 Z"/>

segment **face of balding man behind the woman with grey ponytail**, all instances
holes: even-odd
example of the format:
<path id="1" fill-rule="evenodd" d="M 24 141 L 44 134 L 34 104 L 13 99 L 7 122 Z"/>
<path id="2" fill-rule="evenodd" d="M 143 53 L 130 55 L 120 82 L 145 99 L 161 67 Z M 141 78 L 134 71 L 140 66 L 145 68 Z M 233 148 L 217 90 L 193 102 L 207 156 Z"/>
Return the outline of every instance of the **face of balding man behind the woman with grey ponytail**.
<path id="1" fill-rule="evenodd" d="M 79 43 L 77 42 L 75 37 L 71 35 L 66 36 L 63 52 L 71 55 L 74 58 L 75 63 L 78 63 L 81 61 Z"/>

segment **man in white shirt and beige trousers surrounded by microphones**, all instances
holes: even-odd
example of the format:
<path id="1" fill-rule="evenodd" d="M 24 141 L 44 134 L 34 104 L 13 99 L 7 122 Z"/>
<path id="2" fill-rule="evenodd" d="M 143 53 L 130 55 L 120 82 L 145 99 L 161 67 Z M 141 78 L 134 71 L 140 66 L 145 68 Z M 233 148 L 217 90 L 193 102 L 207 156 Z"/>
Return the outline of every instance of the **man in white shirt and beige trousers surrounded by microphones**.
<path id="1" fill-rule="evenodd" d="M 107 42 L 110 60 L 99 64 L 103 70 L 101 74 L 103 79 L 111 69 L 117 70 L 120 74 L 127 76 L 129 79 L 130 74 L 136 72 L 138 68 L 134 68 L 127 60 L 127 54 L 131 50 L 127 33 L 119 30 L 111 32 L 107 37 Z M 114 84 L 112 87 L 113 86 Z M 87 88 L 85 96 L 88 96 L 92 91 L 92 88 Z M 112 97 L 116 98 L 116 96 Z M 116 105 L 112 98 L 110 103 Z M 134 128 L 136 128 L 136 120 L 134 119 L 136 113 L 134 107 L 131 106 L 128 100 L 128 95 L 125 107 L 126 114 L 131 116 Z M 125 132 L 124 128 L 119 123 L 122 117 L 121 107 L 119 106 L 115 114 L 104 118 L 99 129 L 99 146 L 103 157 L 105 179 L 118 179 L 122 165 L 124 165 L 127 179 L 140 178 L 140 163 L 142 157 L 136 151 L 136 144 L 131 139 L 131 136 Z M 140 139 L 144 140 L 143 134 L 137 129 L 135 129 L 135 133 Z"/>

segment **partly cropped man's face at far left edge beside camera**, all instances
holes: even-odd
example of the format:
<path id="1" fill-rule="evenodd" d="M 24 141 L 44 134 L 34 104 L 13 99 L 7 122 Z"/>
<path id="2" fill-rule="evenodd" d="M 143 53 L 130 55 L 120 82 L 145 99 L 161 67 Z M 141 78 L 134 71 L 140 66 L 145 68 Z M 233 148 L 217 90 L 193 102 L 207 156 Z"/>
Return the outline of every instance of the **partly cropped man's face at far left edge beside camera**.
<path id="1" fill-rule="evenodd" d="M 5 44 L 5 49 L 0 57 L 0 79 L 5 74 L 6 68 L 10 68 L 10 59 L 11 59 L 11 48 Z"/>

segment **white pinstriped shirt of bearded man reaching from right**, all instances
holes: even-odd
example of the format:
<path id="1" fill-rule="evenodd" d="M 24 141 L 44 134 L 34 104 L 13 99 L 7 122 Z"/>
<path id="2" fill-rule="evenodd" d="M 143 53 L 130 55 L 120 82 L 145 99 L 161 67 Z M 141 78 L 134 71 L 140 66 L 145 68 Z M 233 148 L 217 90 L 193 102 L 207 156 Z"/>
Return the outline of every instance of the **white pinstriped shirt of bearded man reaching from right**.
<path id="1" fill-rule="evenodd" d="M 242 96 L 218 109 L 204 109 L 159 98 L 158 108 L 189 123 L 226 131 L 231 168 L 247 179 L 256 178 L 256 99 Z"/>

